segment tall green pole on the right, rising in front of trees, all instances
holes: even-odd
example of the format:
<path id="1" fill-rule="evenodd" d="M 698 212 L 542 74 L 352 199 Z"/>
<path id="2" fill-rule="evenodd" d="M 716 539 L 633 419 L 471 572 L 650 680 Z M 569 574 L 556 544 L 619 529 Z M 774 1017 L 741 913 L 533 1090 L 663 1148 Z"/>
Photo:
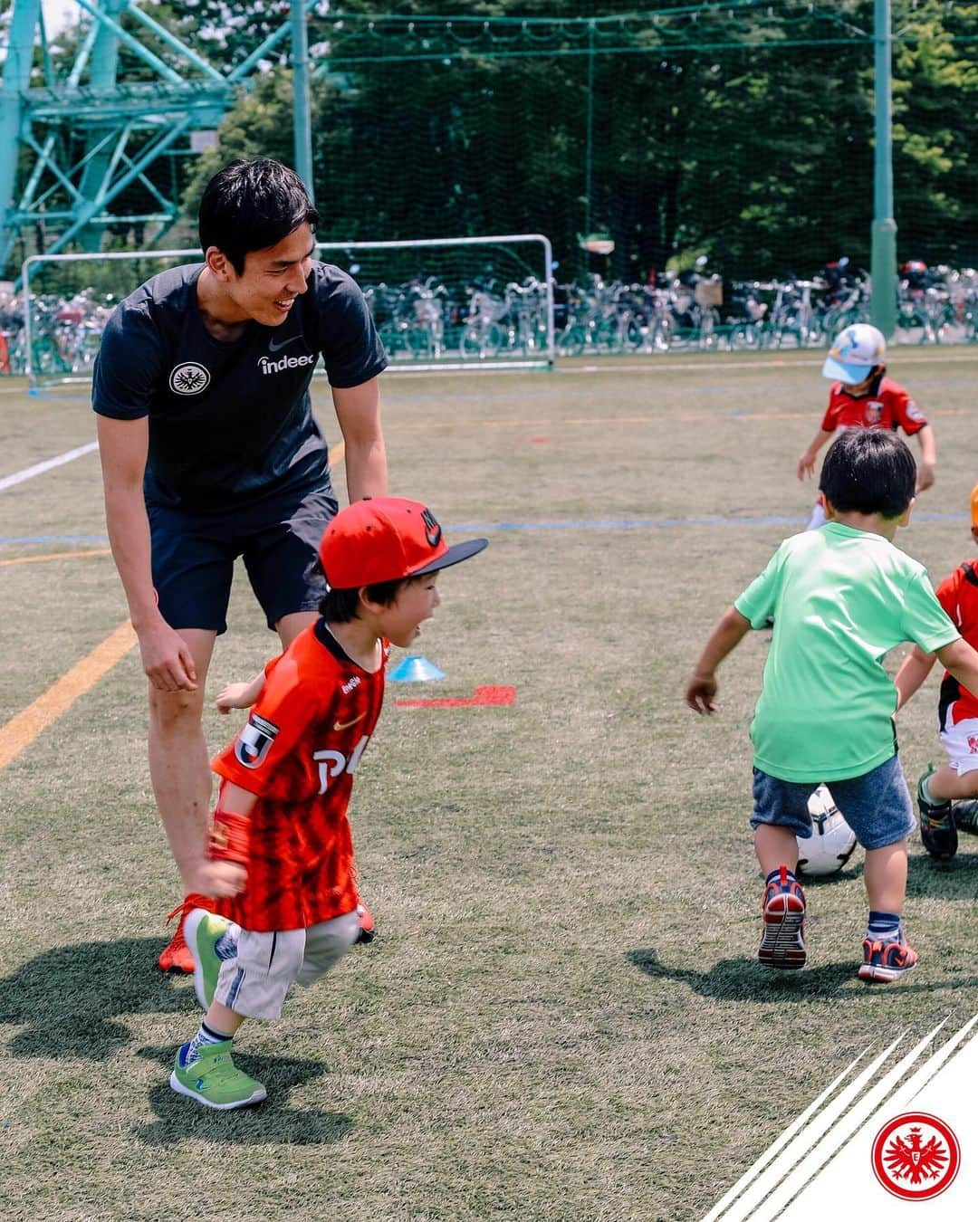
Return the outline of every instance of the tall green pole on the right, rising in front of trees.
<path id="1" fill-rule="evenodd" d="M 873 158 L 873 321 L 889 340 L 896 330 L 896 221 L 894 220 L 892 22 L 890 0 L 874 0 L 875 128 Z"/>

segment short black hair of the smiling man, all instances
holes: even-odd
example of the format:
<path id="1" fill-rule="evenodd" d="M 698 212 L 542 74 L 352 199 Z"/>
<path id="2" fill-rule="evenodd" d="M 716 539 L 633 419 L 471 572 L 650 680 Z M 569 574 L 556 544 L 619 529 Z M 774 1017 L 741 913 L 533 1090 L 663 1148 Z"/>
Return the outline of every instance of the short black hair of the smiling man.
<path id="1" fill-rule="evenodd" d="M 249 251 L 264 251 L 308 224 L 315 229 L 313 208 L 302 178 L 281 161 L 237 158 L 219 170 L 200 199 L 200 247 L 211 246 L 241 275 Z"/>

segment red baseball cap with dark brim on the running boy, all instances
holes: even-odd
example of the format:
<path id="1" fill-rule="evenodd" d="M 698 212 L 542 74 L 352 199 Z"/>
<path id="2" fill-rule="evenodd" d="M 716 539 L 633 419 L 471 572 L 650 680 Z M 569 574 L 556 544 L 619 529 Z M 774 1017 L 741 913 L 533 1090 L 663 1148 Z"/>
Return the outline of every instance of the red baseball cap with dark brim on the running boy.
<path id="1" fill-rule="evenodd" d="M 488 545 L 488 539 L 468 539 L 450 547 L 434 513 L 419 501 L 364 496 L 326 527 L 319 561 L 334 590 L 353 590 L 435 573 Z"/>

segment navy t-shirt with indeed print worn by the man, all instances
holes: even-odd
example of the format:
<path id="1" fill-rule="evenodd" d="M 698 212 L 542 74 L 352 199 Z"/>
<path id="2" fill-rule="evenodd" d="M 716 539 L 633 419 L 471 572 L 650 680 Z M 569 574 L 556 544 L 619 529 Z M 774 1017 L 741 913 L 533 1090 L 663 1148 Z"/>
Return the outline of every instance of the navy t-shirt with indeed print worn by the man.
<path id="1" fill-rule="evenodd" d="M 149 417 L 147 503 L 208 512 L 328 489 L 309 382 L 320 353 L 337 387 L 359 386 L 386 367 L 363 293 L 340 268 L 314 262 L 285 321 L 251 321 L 241 338 L 224 342 L 197 303 L 203 268 L 161 271 L 121 302 L 95 362 L 95 412 Z"/>

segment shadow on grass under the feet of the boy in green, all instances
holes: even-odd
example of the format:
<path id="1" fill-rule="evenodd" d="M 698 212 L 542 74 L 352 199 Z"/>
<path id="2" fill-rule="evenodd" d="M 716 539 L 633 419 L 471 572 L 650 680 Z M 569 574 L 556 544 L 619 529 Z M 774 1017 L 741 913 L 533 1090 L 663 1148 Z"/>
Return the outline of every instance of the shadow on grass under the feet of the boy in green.
<path id="1" fill-rule="evenodd" d="M 851 959 L 823 963 L 801 971 L 770 971 L 751 959 L 721 959 L 709 971 L 691 971 L 660 963 L 655 951 L 628 951 L 626 958 L 639 971 L 655 979 L 678 980 L 703 997 L 724 1001 L 811 1001 L 835 996 L 856 975 Z"/>

